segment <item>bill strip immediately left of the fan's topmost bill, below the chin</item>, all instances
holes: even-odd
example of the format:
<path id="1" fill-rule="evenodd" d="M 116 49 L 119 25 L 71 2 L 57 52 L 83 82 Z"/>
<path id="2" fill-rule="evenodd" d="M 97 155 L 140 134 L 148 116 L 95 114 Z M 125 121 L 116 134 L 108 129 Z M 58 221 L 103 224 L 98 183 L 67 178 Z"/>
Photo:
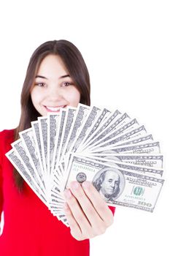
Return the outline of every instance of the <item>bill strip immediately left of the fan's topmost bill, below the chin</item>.
<path id="1" fill-rule="evenodd" d="M 67 108 L 67 113 L 66 113 L 66 122 L 63 125 L 63 132 L 62 132 L 62 137 L 61 137 L 61 145 L 58 151 L 58 160 L 60 161 L 63 159 L 63 148 L 66 145 L 66 140 L 69 136 L 69 131 L 72 127 L 73 121 L 74 121 L 74 116 L 76 113 L 76 108 Z"/>

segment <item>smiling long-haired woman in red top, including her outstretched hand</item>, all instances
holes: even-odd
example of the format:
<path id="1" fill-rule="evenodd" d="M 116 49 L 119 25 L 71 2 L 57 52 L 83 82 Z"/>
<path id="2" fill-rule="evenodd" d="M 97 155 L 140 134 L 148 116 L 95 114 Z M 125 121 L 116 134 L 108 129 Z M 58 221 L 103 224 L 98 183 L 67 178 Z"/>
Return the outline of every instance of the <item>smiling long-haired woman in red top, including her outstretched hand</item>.
<path id="1" fill-rule="evenodd" d="M 47 116 L 81 102 L 90 105 L 90 79 L 80 51 L 66 40 L 40 45 L 31 56 L 21 94 L 20 123 L 16 129 L 0 132 L 0 236 L 1 256 L 89 255 L 88 238 L 112 225 L 115 208 L 90 182 L 73 181 L 65 191 L 65 212 L 70 228 L 58 221 L 39 200 L 4 154 L 31 127 L 38 116 Z"/>

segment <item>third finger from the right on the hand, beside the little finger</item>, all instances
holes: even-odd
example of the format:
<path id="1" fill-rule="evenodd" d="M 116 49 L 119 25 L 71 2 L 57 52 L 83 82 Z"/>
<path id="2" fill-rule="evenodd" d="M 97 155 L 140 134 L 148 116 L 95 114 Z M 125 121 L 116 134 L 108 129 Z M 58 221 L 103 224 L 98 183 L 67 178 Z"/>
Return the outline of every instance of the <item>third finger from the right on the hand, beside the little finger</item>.
<path id="1" fill-rule="evenodd" d="M 66 197 L 66 203 L 68 203 L 75 221 L 80 226 L 81 232 L 83 234 L 91 233 L 90 223 L 85 217 L 85 214 L 82 212 L 82 209 L 77 202 L 77 199 L 74 197 L 74 195 L 72 195 L 72 192 L 69 189 L 65 189 L 64 196 Z"/>

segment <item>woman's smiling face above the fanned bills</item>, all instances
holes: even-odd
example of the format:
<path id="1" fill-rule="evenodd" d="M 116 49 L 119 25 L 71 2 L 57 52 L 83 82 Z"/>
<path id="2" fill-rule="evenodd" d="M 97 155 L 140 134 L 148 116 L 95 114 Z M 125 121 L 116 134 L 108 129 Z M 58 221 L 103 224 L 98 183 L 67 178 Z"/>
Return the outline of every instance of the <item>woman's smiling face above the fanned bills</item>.
<path id="1" fill-rule="evenodd" d="M 31 90 L 31 100 L 42 116 L 67 106 L 77 107 L 80 91 L 74 86 L 60 56 L 50 54 L 42 60 Z"/>

